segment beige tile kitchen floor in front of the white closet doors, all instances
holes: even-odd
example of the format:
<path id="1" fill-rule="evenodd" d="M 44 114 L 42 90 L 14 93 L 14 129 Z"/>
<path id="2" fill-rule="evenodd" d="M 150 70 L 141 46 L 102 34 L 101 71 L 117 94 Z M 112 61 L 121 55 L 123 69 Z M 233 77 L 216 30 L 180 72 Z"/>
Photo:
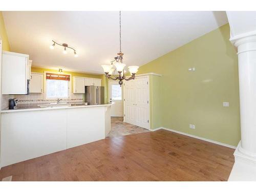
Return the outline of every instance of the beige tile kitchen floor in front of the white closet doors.
<path id="1" fill-rule="evenodd" d="M 108 137 L 118 137 L 145 132 L 149 131 L 139 126 L 123 122 L 123 117 L 111 117 L 111 131 L 108 134 Z"/>

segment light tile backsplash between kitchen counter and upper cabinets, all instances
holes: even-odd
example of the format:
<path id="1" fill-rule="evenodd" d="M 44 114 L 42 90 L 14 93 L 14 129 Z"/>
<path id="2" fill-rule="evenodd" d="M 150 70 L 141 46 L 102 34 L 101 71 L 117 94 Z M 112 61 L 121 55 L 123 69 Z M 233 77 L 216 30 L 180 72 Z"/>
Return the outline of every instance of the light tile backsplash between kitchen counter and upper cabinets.
<path id="1" fill-rule="evenodd" d="M 36 104 L 36 103 L 51 103 L 56 102 L 57 99 L 45 99 L 44 93 L 30 93 L 29 95 L 2 95 L 1 98 L 1 110 L 9 108 L 9 99 L 18 99 L 17 104 Z M 83 102 L 83 94 L 71 93 L 69 99 L 63 99 L 64 101 Z"/>

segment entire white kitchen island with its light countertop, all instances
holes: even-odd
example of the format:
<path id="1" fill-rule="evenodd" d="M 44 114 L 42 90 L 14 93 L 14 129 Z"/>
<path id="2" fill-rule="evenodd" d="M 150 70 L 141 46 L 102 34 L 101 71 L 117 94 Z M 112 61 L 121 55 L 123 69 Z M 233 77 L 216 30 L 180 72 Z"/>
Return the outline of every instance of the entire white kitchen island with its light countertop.
<path id="1" fill-rule="evenodd" d="M 1 111 L 4 167 L 104 139 L 111 129 L 111 104 Z"/>

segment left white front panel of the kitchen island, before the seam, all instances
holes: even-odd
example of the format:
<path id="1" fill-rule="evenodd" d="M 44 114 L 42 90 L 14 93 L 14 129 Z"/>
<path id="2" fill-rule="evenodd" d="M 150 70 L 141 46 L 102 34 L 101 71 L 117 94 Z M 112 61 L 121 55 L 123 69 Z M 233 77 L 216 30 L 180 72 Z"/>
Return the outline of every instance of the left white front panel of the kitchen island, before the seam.
<path id="1" fill-rule="evenodd" d="M 66 149 L 66 110 L 1 116 L 1 166 Z"/>

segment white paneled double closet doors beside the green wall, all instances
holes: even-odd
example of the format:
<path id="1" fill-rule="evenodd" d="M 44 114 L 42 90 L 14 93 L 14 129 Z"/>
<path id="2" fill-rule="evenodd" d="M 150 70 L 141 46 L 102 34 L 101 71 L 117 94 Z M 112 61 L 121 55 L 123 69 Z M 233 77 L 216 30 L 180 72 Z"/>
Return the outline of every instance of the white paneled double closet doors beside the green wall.
<path id="1" fill-rule="evenodd" d="M 148 77 L 125 82 L 124 99 L 124 121 L 150 129 Z"/>

